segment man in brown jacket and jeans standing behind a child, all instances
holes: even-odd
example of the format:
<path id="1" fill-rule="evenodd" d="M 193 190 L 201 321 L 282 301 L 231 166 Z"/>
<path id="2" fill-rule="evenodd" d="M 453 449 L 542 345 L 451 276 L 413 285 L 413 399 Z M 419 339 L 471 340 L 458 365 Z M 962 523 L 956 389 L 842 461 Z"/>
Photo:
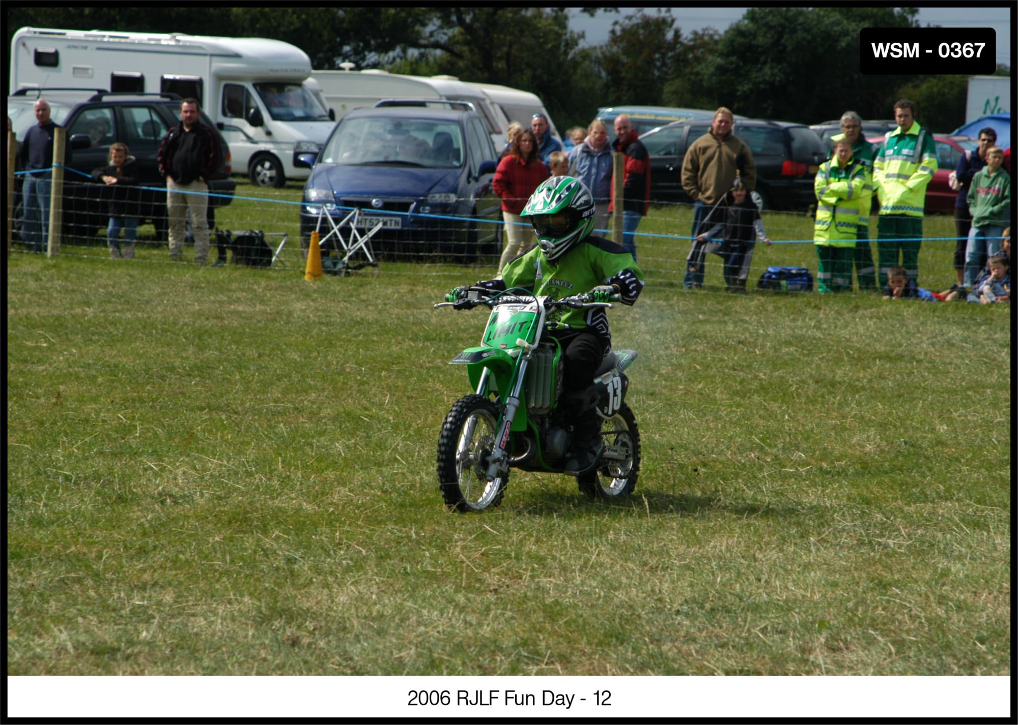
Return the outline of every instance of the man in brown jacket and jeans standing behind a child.
<path id="1" fill-rule="evenodd" d="M 682 286 L 703 286 L 703 251 L 706 242 L 696 240 L 699 227 L 711 209 L 732 188 L 735 175 L 742 178 L 746 191 L 756 187 L 756 163 L 745 142 L 732 132 L 732 112 L 722 106 L 714 113 L 714 123 L 689 145 L 682 160 L 682 188 L 693 198 L 692 247 L 687 257 Z"/>

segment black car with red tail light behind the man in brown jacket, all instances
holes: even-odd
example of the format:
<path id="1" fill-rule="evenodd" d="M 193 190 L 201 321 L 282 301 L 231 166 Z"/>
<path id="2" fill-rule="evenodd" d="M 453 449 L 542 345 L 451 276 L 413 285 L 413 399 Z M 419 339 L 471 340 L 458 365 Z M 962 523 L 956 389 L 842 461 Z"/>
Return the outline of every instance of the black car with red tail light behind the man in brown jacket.
<path id="1" fill-rule="evenodd" d="M 710 119 L 676 121 L 640 136 L 651 155 L 653 201 L 690 200 L 682 188 L 682 160 L 689 145 L 710 128 Z M 827 154 L 808 126 L 736 119 L 734 133 L 753 154 L 756 189 L 752 197 L 757 206 L 805 212 L 816 203 L 813 178 Z"/>

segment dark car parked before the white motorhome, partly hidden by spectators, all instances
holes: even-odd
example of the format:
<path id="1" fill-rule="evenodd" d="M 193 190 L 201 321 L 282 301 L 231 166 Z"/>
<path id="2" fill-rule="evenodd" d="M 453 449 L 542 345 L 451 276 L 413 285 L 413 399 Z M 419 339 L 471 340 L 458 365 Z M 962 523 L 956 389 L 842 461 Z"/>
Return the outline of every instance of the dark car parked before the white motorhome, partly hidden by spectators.
<path id="1" fill-rule="evenodd" d="M 161 239 L 166 232 L 166 194 L 157 187 L 166 183 L 159 175 L 159 144 L 171 126 L 180 123 L 180 97 L 176 94 L 112 94 L 108 90 L 47 88 L 42 96 L 50 104 L 50 118 L 67 131 L 73 148 L 70 166 L 64 173 L 64 234 L 94 237 L 108 222 L 102 203 L 105 187 L 94 183 L 92 171 L 107 165 L 110 146 L 126 143 L 140 175 L 138 217 L 151 220 Z M 34 106 L 38 88 L 21 88 L 7 97 L 7 115 L 18 139 L 36 123 Z M 205 113 L 202 123 L 216 133 L 223 160 L 219 173 L 209 180 L 210 218 L 212 209 L 233 200 L 237 182 L 230 177 L 230 149 L 222 134 Z M 20 146 L 20 141 L 18 143 Z M 15 213 L 15 217 L 19 217 Z"/>

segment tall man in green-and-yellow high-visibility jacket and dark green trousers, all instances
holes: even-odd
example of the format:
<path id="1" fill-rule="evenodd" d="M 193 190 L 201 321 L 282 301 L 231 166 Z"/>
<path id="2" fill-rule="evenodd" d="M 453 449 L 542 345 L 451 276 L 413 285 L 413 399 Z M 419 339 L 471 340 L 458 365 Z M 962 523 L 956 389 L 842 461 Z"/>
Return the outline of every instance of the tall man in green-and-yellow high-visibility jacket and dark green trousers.
<path id="1" fill-rule="evenodd" d="M 876 256 L 882 288 L 888 271 L 899 264 L 899 252 L 908 279 L 918 283 L 926 185 L 937 171 L 937 144 L 932 134 L 915 122 L 915 104 L 899 101 L 894 117 L 898 128 L 888 134 L 873 160 L 873 186 L 881 200 Z"/>

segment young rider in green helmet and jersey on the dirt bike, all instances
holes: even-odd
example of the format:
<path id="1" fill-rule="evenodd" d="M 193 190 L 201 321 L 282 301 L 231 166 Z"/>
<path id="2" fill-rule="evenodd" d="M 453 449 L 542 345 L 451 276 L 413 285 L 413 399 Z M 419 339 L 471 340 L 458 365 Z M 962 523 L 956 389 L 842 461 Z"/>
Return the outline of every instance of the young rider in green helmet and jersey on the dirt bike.
<path id="1" fill-rule="evenodd" d="M 538 245 L 506 264 L 499 277 L 477 286 L 492 291 L 525 288 L 553 299 L 592 292 L 600 301 L 617 289 L 624 304 L 633 304 L 643 289 L 643 273 L 621 246 L 590 236 L 596 212 L 593 197 L 579 179 L 556 176 L 543 182 L 520 214 L 530 218 Z M 457 287 L 447 299 L 464 295 Z M 593 373 L 611 347 L 612 335 L 603 307 L 570 307 L 560 314 L 559 321 L 566 326 L 552 333 L 565 361 L 560 409 L 573 422 L 572 458 L 566 472 L 579 476 L 597 468 L 604 448 Z"/>

